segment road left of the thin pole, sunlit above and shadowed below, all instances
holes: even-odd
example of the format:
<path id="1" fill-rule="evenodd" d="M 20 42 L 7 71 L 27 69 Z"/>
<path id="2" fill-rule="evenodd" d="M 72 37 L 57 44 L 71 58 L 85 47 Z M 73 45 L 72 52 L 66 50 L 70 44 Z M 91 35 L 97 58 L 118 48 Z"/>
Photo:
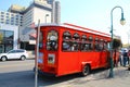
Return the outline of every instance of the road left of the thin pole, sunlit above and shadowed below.
<path id="1" fill-rule="evenodd" d="M 0 87 L 34 87 L 34 60 L 0 62 Z"/>

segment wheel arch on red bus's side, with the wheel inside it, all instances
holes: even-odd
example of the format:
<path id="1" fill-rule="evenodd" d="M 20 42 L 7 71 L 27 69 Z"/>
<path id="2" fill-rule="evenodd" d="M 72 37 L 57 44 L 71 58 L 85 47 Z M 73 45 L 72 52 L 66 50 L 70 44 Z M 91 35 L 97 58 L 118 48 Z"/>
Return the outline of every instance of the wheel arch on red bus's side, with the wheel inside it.
<path id="1" fill-rule="evenodd" d="M 82 64 L 81 75 L 87 76 L 90 74 L 91 66 L 89 63 Z"/>

